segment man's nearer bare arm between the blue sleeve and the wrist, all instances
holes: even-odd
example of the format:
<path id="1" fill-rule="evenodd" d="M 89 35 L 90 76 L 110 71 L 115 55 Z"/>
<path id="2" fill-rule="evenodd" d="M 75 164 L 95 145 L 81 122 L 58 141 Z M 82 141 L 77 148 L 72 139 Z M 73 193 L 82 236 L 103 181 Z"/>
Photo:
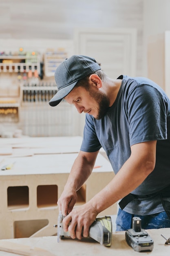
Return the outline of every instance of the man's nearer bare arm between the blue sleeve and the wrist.
<path id="1" fill-rule="evenodd" d="M 146 142 L 146 144 L 149 144 L 149 142 Z M 154 144 L 154 142 L 152 144 Z M 141 154 L 139 155 L 137 152 L 137 146 L 134 146 L 134 148 L 136 150 L 134 156 L 132 154 L 113 180 L 89 201 L 89 204 L 91 204 L 98 213 L 136 189 L 153 171 L 155 167 L 155 157 L 152 157 L 152 153 L 150 153 L 150 155 L 148 153 L 148 155 L 146 154 L 142 157 Z M 141 150 L 139 151 L 141 152 Z M 151 152 L 155 154 L 154 149 L 152 149 Z"/>

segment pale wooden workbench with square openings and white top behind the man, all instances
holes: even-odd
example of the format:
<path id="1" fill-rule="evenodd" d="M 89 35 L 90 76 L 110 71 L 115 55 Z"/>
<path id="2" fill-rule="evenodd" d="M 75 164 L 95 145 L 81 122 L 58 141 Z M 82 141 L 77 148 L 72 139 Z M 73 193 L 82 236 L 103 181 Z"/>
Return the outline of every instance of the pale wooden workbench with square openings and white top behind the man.
<path id="1" fill-rule="evenodd" d="M 60 197 L 79 152 L 82 137 L 1 138 L 0 239 L 53 236 Z M 75 207 L 88 202 L 114 177 L 99 154 L 91 176 L 77 192 Z M 117 213 L 117 204 L 100 216 Z M 3 230 L 3 231 L 2 231 Z"/>

